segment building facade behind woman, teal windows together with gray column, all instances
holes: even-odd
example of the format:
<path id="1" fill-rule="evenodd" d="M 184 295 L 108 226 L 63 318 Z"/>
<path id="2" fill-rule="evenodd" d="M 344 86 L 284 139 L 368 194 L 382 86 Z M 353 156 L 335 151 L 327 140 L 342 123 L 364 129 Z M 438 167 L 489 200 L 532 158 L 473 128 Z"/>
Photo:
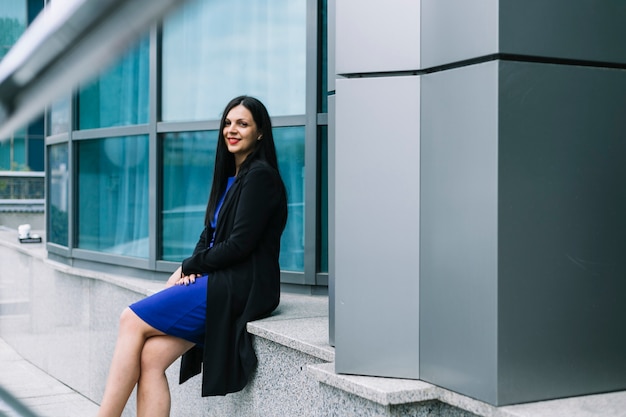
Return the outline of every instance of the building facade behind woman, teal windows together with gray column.
<path id="1" fill-rule="evenodd" d="M 46 113 L 47 254 L 164 278 L 220 111 L 273 116 L 285 289 L 336 371 L 505 405 L 626 389 L 626 5 L 191 0 Z"/>

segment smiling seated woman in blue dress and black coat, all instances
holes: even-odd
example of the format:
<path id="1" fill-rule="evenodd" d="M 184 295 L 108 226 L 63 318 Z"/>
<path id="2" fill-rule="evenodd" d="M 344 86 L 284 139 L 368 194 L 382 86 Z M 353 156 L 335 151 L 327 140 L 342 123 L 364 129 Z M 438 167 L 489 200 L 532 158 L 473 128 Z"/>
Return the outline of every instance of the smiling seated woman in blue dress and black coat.
<path id="1" fill-rule="evenodd" d="M 181 355 L 181 383 L 204 362 L 203 396 L 243 389 L 256 366 L 246 323 L 278 306 L 286 220 L 270 117 L 237 97 L 220 122 L 204 231 L 166 288 L 122 313 L 99 416 L 120 416 L 135 385 L 139 417 L 168 416 L 165 370 Z"/>

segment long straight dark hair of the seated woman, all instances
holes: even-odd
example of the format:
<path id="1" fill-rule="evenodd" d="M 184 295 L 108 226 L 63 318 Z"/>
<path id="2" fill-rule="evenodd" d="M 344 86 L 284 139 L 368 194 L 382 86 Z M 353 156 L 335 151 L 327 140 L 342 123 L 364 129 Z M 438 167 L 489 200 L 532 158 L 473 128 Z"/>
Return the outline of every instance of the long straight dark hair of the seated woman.
<path id="1" fill-rule="evenodd" d="M 204 216 L 204 224 L 206 226 L 211 224 L 211 219 L 215 216 L 215 209 L 221 195 L 224 193 L 224 190 L 226 190 L 228 177 L 235 175 L 235 156 L 228 152 L 228 148 L 226 147 L 224 124 L 228 113 L 239 105 L 244 106 L 250 111 L 259 134 L 263 135 L 263 138 L 256 142 L 255 149 L 248 155 L 242 166 L 239 167 L 239 173 L 241 174 L 245 171 L 245 167 L 255 159 L 261 159 L 267 162 L 272 168 L 278 171 L 276 146 L 274 145 L 274 135 L 272 133 L 272 121 L 265 105 L 254 97 L 235 97 L 226 105 L 226 108 L 224 108 L 222 120 L 220 121 L 220 130 L 217 135 L 217 151 L 215 152 L 213 184 L 211 185 L 209 202 Z"/>

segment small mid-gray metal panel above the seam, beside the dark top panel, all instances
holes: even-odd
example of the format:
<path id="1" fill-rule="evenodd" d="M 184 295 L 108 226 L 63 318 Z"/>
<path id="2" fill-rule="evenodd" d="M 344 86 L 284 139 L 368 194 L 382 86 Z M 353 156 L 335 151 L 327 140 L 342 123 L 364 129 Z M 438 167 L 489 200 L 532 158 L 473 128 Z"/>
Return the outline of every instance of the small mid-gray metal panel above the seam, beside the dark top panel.
<path id="1" fill-rule="evenodd" d="M 498 2 L 422 0 L 422 67 L 496 53 Z"/>

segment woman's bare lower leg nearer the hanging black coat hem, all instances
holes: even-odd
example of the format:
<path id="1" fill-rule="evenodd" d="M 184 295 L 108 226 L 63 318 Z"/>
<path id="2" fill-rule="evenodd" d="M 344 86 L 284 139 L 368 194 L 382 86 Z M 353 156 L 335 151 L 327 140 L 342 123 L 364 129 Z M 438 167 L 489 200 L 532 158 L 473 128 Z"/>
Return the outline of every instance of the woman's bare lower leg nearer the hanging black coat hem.
<path id="1" fill-rule="evenodd" d="M 137 417 L 170 415 L 171 398 L 165 370 L 193 345 L 174 336 L 155 336 L 146 341 L 137 385 Z"/>

